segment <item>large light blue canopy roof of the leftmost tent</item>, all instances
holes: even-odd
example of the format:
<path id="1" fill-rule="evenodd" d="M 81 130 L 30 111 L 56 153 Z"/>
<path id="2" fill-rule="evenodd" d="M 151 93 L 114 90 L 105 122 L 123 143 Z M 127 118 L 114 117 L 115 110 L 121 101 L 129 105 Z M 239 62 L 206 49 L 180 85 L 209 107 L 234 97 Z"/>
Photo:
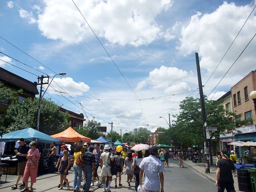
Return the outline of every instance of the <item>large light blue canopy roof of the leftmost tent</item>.
<path id="1" fill-rule="evenodd" d="M 36 141 L 38 143 L 47 144 L 55 142 L 56 144 L 61 144 L 60 140 L 55 139 L 33 128 L 26 128 L 4 134 L 2 137 L 2 142 L 16 142 L 17 140 L 19 140 L 19 138 L 24 138 L 26 142 Z"/>

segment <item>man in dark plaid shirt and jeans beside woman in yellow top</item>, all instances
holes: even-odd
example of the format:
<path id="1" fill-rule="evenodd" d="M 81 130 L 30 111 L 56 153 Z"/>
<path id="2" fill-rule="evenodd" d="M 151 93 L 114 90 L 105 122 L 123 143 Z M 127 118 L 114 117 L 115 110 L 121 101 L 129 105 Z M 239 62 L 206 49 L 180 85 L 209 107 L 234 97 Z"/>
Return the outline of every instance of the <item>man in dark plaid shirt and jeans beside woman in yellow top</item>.
<path id="1" fill-rule="evenodd" d="M 83 160 L 84 160 L 84 192 L 89 192 L 90 185 L 92 182 L 92 174 L 95 172 L 95 156 L 92 153 L 94 150 L 94 146 L 89 147 L 90 151 L 84 153 Z"/>

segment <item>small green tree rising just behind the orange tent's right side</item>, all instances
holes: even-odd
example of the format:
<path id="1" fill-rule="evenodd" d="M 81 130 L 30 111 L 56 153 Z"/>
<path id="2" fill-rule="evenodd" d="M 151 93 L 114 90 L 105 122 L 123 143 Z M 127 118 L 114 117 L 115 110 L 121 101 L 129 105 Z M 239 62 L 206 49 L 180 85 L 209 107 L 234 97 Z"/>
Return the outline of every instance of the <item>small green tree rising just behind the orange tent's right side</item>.
<path id="1" fill-rule="evenodd" d="M 98 132 L 100 122 L 95 120 L 87 121 L 81 128 L 74 128 L 79 134 L 89 137 L 91 139 L 98 139 L 101 136 L 101 132 Z"/>

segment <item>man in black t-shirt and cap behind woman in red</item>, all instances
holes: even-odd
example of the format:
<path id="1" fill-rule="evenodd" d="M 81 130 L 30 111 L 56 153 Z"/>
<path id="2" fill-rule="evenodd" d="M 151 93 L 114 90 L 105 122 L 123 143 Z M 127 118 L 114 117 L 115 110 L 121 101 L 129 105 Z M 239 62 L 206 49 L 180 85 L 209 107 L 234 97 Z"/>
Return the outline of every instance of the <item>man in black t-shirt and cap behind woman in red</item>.
<path id="1" fill-rule="evenodd" d="M 18 150 L 14 150 L 14 152 L 18 155 L 18 176 L 15 185 L 12 186 L 12 189 L 18 188 L 18 182 L 20 181 L 20 178 L 23 177 L 25 171 L 28 150 L 30 150 L 30 147 L 28 146 L 28 144 L 26 144 L 24 138 L 20 138 L 17 142 L 20 144 L 20 146 L 18 147 Z M 19 186 L 25 186 L 25 183 L 22 182 L 22 184 L 20 184 Z"/>

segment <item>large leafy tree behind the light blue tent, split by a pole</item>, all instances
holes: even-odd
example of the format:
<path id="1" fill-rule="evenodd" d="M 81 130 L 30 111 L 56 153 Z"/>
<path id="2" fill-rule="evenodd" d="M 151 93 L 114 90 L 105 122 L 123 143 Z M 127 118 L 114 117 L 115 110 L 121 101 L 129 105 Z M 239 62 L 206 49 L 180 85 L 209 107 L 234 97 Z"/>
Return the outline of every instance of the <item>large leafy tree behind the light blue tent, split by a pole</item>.
<path id="1" fill-rule="evenodd" d="M 22 104 L 13 102 L 10 104 L 6 118 L 10 122 L 8 132 L 24 129 L 35 128 L 38 114 L 38 98 L 26 98 Z M 60 106 L 51 100 L 42 100 L 40 113 L 40 132 L 48 135 L 55 134 L 62 130 L 62 127 L 68 125 L 68 112 L 60 111 Z"/>

